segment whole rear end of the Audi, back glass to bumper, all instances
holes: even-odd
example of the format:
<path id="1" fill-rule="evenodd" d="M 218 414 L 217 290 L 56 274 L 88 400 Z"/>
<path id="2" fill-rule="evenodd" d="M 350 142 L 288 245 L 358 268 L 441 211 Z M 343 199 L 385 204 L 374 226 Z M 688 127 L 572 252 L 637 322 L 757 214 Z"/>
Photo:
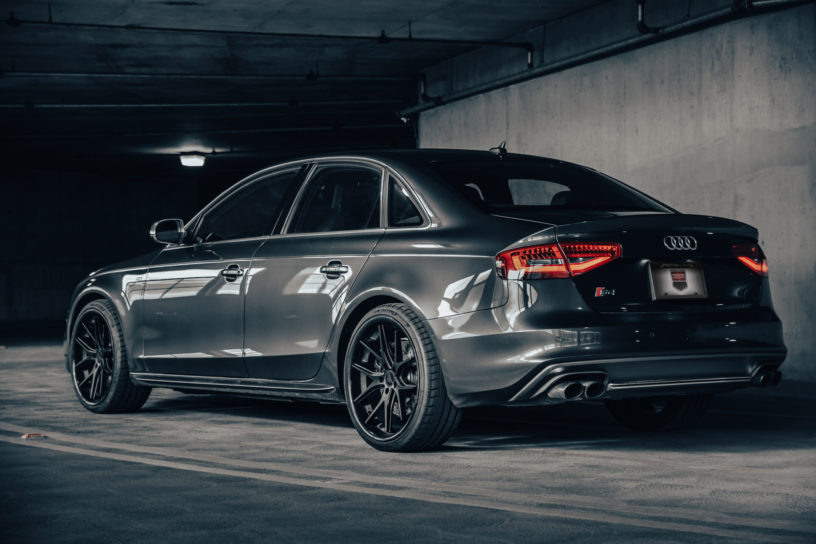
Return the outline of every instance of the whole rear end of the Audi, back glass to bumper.
<path id="1" fill-rule="evenodd" d="M 677 213 L 575 165 L 499 160 L 492 174 L 484 173 L 489 159 L 473 168 L 437 167 L 446 183 L 469 186 L 461 194 L 485 216 L 524 221 L 531 231 L 495 248 L 502 304 L 464 321 L 431 320 L 457 405 L 699 395 L 778 383 L 786 349 L 756 229 Z M 491 188 L 514 180 L 528 185 L 526 196 Z M 560 191 L 529 190 L 534 181 L 553 180 Z"/>

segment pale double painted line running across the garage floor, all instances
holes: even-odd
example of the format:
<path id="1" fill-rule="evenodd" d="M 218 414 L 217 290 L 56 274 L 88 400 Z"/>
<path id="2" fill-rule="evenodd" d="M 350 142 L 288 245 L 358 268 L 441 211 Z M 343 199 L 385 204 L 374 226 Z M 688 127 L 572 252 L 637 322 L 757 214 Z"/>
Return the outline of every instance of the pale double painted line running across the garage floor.
<path id="1" fill-rule="evenodd" d="M 10 425 L 2 425 L 3 427 L 8 427 Z M 47 434 L 47 433 L 45 433 Z M 52 433 L 51 440 L 57 439 L 55 433 Z M 612 523 L 612 524 L 619 524 L 619 525 L 627 525 L 627 526 L 636 526 L 636 527 L 643 527 L 643 528 L 650 528 L 650 529 L 657 529 L 657 530 L 667 530 L 667 531 L 675 531 L 675 532 L 684 532 L 684 533 L 697 533 L 697 534 L 705 534 L 710 536 L 719 536 L 724 538 L 736 538 L 740 540 L 763 540 L 767 541 L 769 539 L 773 539 L 773 536 L 779 537 L 778 534 L 770 535 L 770 534 L 757 534 L 754 530 L 732 530 L 732 529 L 723 529 L 719 527 L 713 526 L 706 526 L 706 525 L 699 525 L 699 524 L 691 524 L 691 523 L 678 523 L 678 522 L 670 522 L 670 521 L 661 521 L 661 520 L 650 520 L 650 519 L 634 519 L 634 518 L 625 518 L 621 516 L 610 515 L 606 513 L 599 513 L 599 512 L 577 512 L 574 510 L 565 510 L 563 508 L 557 507 L 546 507 L 541 506 L 540 499 L 535 495 L 524 495 L 524 494 L 517 494 L 517 493 L 506 493 L 506 492 L 494 492 L 491 491 L 489 496 L 473 496 L 472 493 L 469 496 L 463 496 L 461 494 L 454 494 L 451 495 L 440 495 L 434 493 L 434 491 L 446 491 L 444 489 L 437 490 L 437 489 L 429 489 L 427 487 L 419 487 L 413 488 L 412 486 L 405 486 L 406 483 L 411 484 L 413 483 L 416 485 L 419 482 L 412 482 L 410 480 L 401 480 L 401 479 L 394 479 L 389 478 L 389 480 L 395 480 L 393 483 L 388 482 L 386 485 L 397 485 L 398 488 L 392 489 L 385 489 L 382 487 L 365 487 L 358 485 L 359 483 L 364 482 L 357 482 L 357 483 L 350 483 L 344 476 L 345 474 L 342 473 L 335 473 L 334 476 L 331 474 L 334 471 L 324 471 L 324 470 L 312 470 L 313 472 L 310 474 L 312 477 L 321 477 L 321 480 L 315 480 L 311 478 L 304 478 L 298 477 L 294 475 L 285 475 L 285 474 L 269 474 L 269 473 L 261 473 L 261 472 L 254 472 L 254 471 L 245 471 L 245 470 L 235 470 L 223 467 L 216 467 L 216 466 L 202 466 L 197 464 L 191 463 L 183 463 L 179 461 L 172 461 L 172 460 L 163 460 L 163 459 L 156 459 L 151 457 L 142 457 L 137 455 L 132 455 L 128 453 L 113 453 L 113 452 L 106 452 L 106 451 L 99 451 L 95 449 L 88 449 L 88 448 L 80 448 L 74 446 L 66 446 L 62 444 L 56 444 L 53 442 L 49 442 L 49 439 L 41 439 L 36 441 L 24 441 L 17 437 L 9 437 L 9 436 L 2 436 L 0 435 L 0 441 L 7 442 L 10 444 L 28 446 L 28 447 L 35 447 L 41 448 L 46 450 L 52 451 L 60 451 L 64 453 L 71 453 L 76 455 L 85 455 L 91 457 L 98 457 L 103 459 L 110 459 L 115 461 L 122 461 L 122 462 L 130 462 L 130 463 L 139 463 L 139 464 L 146 464 L 151 466 L 158 466 L 164 468 L 171 468 L 177 470 L 186 470 L 186 471 L 193 471 L 193 472 L 201 472 L 207 474 L 214 474 L 214 475 L 221 475 L 221 476 L 231 476 L 237 478 L 248 478 L 254 480 L 261 480 L 267 482 L 273 482 L 278 484 L 285 484 L 285 485 L 297 485 L 297 486 L 307 486 L 307 487 L 316 487 L 322 489 L 329 489 L 333 491 L 341 491 L 341 492 L 352 492 L 352 493 L 365 493 L 370 495 L 378 495 L 378 496 L 385 496 L 385 497 L 392 497 L 392 498 L 402 498 L 402 499 L 411 499 L 411 500 L 419 500 L 425 502 L 433 502 L 433 503 L 441 503 L 441 504 L 451 504 L 451 505 L 459 505 L 459 506 L 469 506 L 475 508 L 487 508 L 491 510 L 502 510 L 508 512 L 514 512 L 518 514 L 528 514 L 528 515 L 536 515 L 536 516 L 544 516 L 544 517 L 552 517 L 552 518 L 562 518 L 562 519 L 575 519 L 581 521 L 594 521 L 598 523 Z M 152 450 L 157 450 L 160 448 L 149 448 Z M 159 455 L 165 455 L 164 453 L 159 453 Z M 253 463 L 247 462 L 250 464 L 256 465 L 266 465 L 266 463 Z M 354 475 L 359 476 L 359 475 Z M 385 482 L 382 482 L 385 483 Z M 401 487 L 401 488 L 400 488 Z M 497 496 L 498 495 L 498 496 Z M 504 497 L 501 497 L 504 495 Z M 500 500 L 502 498 L 507 499 L 507 495 L 516 495 L 514 498 L 523 498 L 526 499 L 524 503 L 502 503 Z M 608 506 L 608 505 L 607 505 Z M 702 519 L 698 518 L 697 520 L 689 520 L 689 521 L 702 521 Z M 736 526 L 743 525 L 745 520 L 738 520 L 738 521 L 730 521 L 729 524 L 734 524 Z M 754 524 L 751 524 L 754 525 Z M 774 530 L 774 528 L 769 527 L 767 525 L 758 525 L 757 528 L 762 528 L 766 530 Z M 784 530 L 784 531 L 794 531 L 799 532 L 797 529 L 792 529 L 791 527 L 779 527 L 776 530 Z M 788 535 L 793 536 L 793 535 Z M 785 538 L 785 540 L 789 540 L 789 538 Z M 808 539 L 803 539 L 807 541 Z"/>

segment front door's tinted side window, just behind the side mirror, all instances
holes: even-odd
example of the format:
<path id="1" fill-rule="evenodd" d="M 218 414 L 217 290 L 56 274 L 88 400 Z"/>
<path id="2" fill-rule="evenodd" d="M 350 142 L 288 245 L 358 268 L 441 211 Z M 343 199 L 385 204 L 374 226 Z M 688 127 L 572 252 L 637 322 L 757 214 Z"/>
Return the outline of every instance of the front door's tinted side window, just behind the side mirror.
<path id="1" fill-rule="evenodd" d="M 300 168 L 272 174 L 231 194 L 208 211 L 196 229 L 197 242 L 253 238 L 272 233 Z"/>

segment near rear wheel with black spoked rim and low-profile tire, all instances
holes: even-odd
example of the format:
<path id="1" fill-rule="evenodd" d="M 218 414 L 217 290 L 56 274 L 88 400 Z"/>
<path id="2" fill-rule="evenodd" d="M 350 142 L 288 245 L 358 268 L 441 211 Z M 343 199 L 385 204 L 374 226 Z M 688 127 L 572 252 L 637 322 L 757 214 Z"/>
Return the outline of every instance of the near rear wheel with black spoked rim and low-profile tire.
<path id="1" fill-rule="evenodd" d="M 360 320 L 343 384 L 354 427 L 378 450 L 437 448 L 462 419 L 424 322 L 404 304 L 378 306 Z"/>

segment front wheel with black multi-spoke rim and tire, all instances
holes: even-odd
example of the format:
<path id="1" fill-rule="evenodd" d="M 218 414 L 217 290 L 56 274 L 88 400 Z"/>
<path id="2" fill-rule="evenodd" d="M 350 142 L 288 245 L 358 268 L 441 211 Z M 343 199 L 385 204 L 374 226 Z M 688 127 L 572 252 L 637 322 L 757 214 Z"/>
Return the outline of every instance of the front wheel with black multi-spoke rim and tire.
<path id="1" fill-rule="evenodd" d="M 132 412 L 150 396 L 150 387 L 130 380 L 122 325 L 107 300 L 89 302 L 79 312 L 68 358 L 74 393 L 91 412 Z"/>

